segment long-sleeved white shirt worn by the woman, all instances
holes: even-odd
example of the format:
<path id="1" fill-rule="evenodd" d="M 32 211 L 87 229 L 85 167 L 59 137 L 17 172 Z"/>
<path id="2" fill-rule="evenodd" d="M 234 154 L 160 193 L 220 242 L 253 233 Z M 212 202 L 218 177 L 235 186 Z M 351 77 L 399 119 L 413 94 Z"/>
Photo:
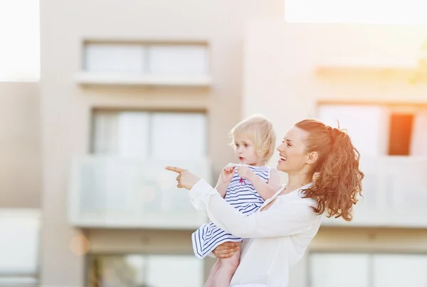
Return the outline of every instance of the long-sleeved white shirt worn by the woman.
<path id="1" fill-rule="evenodd" d="M 205 180 L 199 180 L 189 191 L 194 207 L 206 210 L 218 227 L 236 237 L 248 238 L 243 242 L 241 261 L 231 286 L 288 286 L 289 268 L 302 258 L 317 234 L 322 217 L 311 208 L 315 201 L 302 198 L 301 189 L 280 195 L 284 188 L 265 200 L 260 210 L 276 199 L 267 210 L 258 210 L 248 217 L 229 205 Z"/>

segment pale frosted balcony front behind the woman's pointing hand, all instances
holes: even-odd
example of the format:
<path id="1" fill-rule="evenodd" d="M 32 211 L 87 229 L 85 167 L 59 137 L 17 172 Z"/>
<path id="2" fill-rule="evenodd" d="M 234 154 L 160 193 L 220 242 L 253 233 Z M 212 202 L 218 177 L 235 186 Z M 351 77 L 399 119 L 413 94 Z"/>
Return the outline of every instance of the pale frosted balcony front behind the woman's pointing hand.
<path id="1" fill-rule="evenodd" d="M 85 156 L 75 158 L 68 193 L 68 218 L 82 228 L 195 229 L 206 213 L 191 206 L 186 190 L 176 188 L 175 165 L 211 181 L 209 160 Z"/>

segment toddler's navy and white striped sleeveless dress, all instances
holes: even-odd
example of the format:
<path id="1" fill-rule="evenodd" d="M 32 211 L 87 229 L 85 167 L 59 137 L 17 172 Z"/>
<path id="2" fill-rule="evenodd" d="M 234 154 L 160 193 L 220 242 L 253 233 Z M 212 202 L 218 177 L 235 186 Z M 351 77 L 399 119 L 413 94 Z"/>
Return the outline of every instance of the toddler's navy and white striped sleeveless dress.
<path id="1" fill-rule="evenodd" d="M 238 165 L 240 166 L 240 165 Z M 270 168 L 268 166 L 248 166 L 255 175 L 268 182 Z M 234 171 L 233 179 L 227 187 L 226 202 L 229 202 L 236 210 L 244 215 L 251 215 L 263 205 L 263 198 L 257 193 L 249 180 L 243 180 Z M 218 245 L 224 242 L 241 242 L 243 238 L 235 237 L 217 227 L 214 222 L 203 224 L 191 235 L 193 250 L 196 257 L 203 259 L 210 254 Z"/>

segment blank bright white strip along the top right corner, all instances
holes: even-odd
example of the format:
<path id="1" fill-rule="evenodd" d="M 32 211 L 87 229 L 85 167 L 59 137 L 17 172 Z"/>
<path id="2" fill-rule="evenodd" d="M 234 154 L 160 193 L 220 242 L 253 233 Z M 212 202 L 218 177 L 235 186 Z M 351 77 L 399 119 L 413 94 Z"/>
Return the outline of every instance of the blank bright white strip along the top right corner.
<path id="1" fill-rule="evenodd" d="M 293 23 L 425 24 L 424 0 L 286 0 L 286 21 Z"/>

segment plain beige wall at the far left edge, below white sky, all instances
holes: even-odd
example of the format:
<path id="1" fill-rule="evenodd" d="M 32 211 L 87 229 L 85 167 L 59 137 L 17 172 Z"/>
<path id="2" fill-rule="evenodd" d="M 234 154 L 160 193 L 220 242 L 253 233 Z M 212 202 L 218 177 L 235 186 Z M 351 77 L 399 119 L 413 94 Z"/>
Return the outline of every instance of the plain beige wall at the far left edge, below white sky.
<path id="1" fill-rule="evenodd" d="M 0 82 L 0 208 L 41 205 L 37 83 Z"/>

